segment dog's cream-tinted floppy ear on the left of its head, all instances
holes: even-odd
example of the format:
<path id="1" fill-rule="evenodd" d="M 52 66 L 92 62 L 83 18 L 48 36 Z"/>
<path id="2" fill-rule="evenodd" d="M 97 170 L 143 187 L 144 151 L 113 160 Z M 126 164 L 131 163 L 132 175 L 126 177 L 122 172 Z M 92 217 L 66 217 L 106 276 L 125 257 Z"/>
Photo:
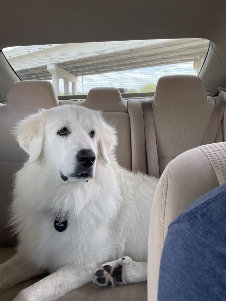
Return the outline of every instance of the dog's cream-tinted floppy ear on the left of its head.
<path id="1" fill-rule="evenodd" d="M 29 154 L 29 162 L 36 161 L 44 143 L 44 116 L 43 112 L 32 114 L 21 120 L 14 133 L 20 147 Z"/>

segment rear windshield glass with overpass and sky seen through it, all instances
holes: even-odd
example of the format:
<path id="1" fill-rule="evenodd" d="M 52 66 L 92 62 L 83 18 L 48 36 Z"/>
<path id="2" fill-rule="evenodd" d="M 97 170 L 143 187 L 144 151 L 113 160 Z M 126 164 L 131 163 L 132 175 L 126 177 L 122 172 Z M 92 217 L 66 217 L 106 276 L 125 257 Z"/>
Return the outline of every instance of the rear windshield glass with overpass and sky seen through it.
<path id="1" fill-rule="evenodd" d="M 167 74 L 199 74 L 209 41 L 164 39 L 9 47 L 5 57 L 21 80 L 45 79 L 58 95 L 94 87 L 154 92 Z"/>

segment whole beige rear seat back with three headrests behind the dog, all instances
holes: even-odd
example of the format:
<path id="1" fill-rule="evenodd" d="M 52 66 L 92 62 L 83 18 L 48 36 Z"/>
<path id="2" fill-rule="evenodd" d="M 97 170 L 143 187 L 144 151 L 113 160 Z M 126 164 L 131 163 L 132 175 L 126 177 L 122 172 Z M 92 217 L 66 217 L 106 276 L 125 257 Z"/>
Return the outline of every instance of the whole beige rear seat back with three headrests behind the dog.
<path id="1" fill-rule="evenodd" d="M 164 76 L 156 87 L 154 99 L 148 98 L 155 120 L 156 141 L 160 174 L 169 161 L 180 153 L 201 145 L 215 100 L 206 96 L 202 80 L 196 76 Z M 102 110 L 107 122 L 118 132 L 117 159 L 128 170 L 146 173 L 146 147 L 143 110 L 138 99 L 128 101 L 117 88 L 93 88 L 85 101 L 60 101 L 94 110 Z M 55 90 L 47 81 L 23 81 L 14 83 L 9 91 L 7 105 L 0 106 L 0 138 L 4 147 L 0 150 L 1 223 L 5 224 L 6 207 L 11 201 L 12 176 L 26 159 L 24 151 L 11 135 L 11 129 L 39 108 L 58 106 Z M 223 119 L 223 124 L 226 119 Z M 148 137 L 146 137 L 148 139 Z M 216 142 L 223 141 L 222 127 Z M 2 245 L 14 244 L 9 231 L 1 227 Z"/>

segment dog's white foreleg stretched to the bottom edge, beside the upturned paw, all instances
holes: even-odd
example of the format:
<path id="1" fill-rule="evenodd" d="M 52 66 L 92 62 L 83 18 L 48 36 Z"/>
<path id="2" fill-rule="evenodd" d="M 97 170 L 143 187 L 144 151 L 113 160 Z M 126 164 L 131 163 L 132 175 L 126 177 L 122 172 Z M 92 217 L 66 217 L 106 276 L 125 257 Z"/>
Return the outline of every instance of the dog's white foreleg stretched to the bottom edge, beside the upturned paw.
<path id="1" fill-rule="evenodd" d="M 21 290 L 13 301 L 55 301 L 67 292 L 92 281 L 96 266 L 65 266 Z"/>

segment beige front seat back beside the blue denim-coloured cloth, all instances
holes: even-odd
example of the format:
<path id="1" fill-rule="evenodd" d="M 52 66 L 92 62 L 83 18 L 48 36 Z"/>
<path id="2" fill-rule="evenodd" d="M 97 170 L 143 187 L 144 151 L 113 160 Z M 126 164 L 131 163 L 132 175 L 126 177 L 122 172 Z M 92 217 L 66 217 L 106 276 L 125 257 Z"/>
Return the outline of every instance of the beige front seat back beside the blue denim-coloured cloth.
<path id="1" fill-rule="evenodd" d="M 226 142 L 208 144 L 180 154 L 160 177 L 149 228 L 148 301 L 157 301 L 159 265 L 168 225 L 225 179 L 225 166 Z"/>

